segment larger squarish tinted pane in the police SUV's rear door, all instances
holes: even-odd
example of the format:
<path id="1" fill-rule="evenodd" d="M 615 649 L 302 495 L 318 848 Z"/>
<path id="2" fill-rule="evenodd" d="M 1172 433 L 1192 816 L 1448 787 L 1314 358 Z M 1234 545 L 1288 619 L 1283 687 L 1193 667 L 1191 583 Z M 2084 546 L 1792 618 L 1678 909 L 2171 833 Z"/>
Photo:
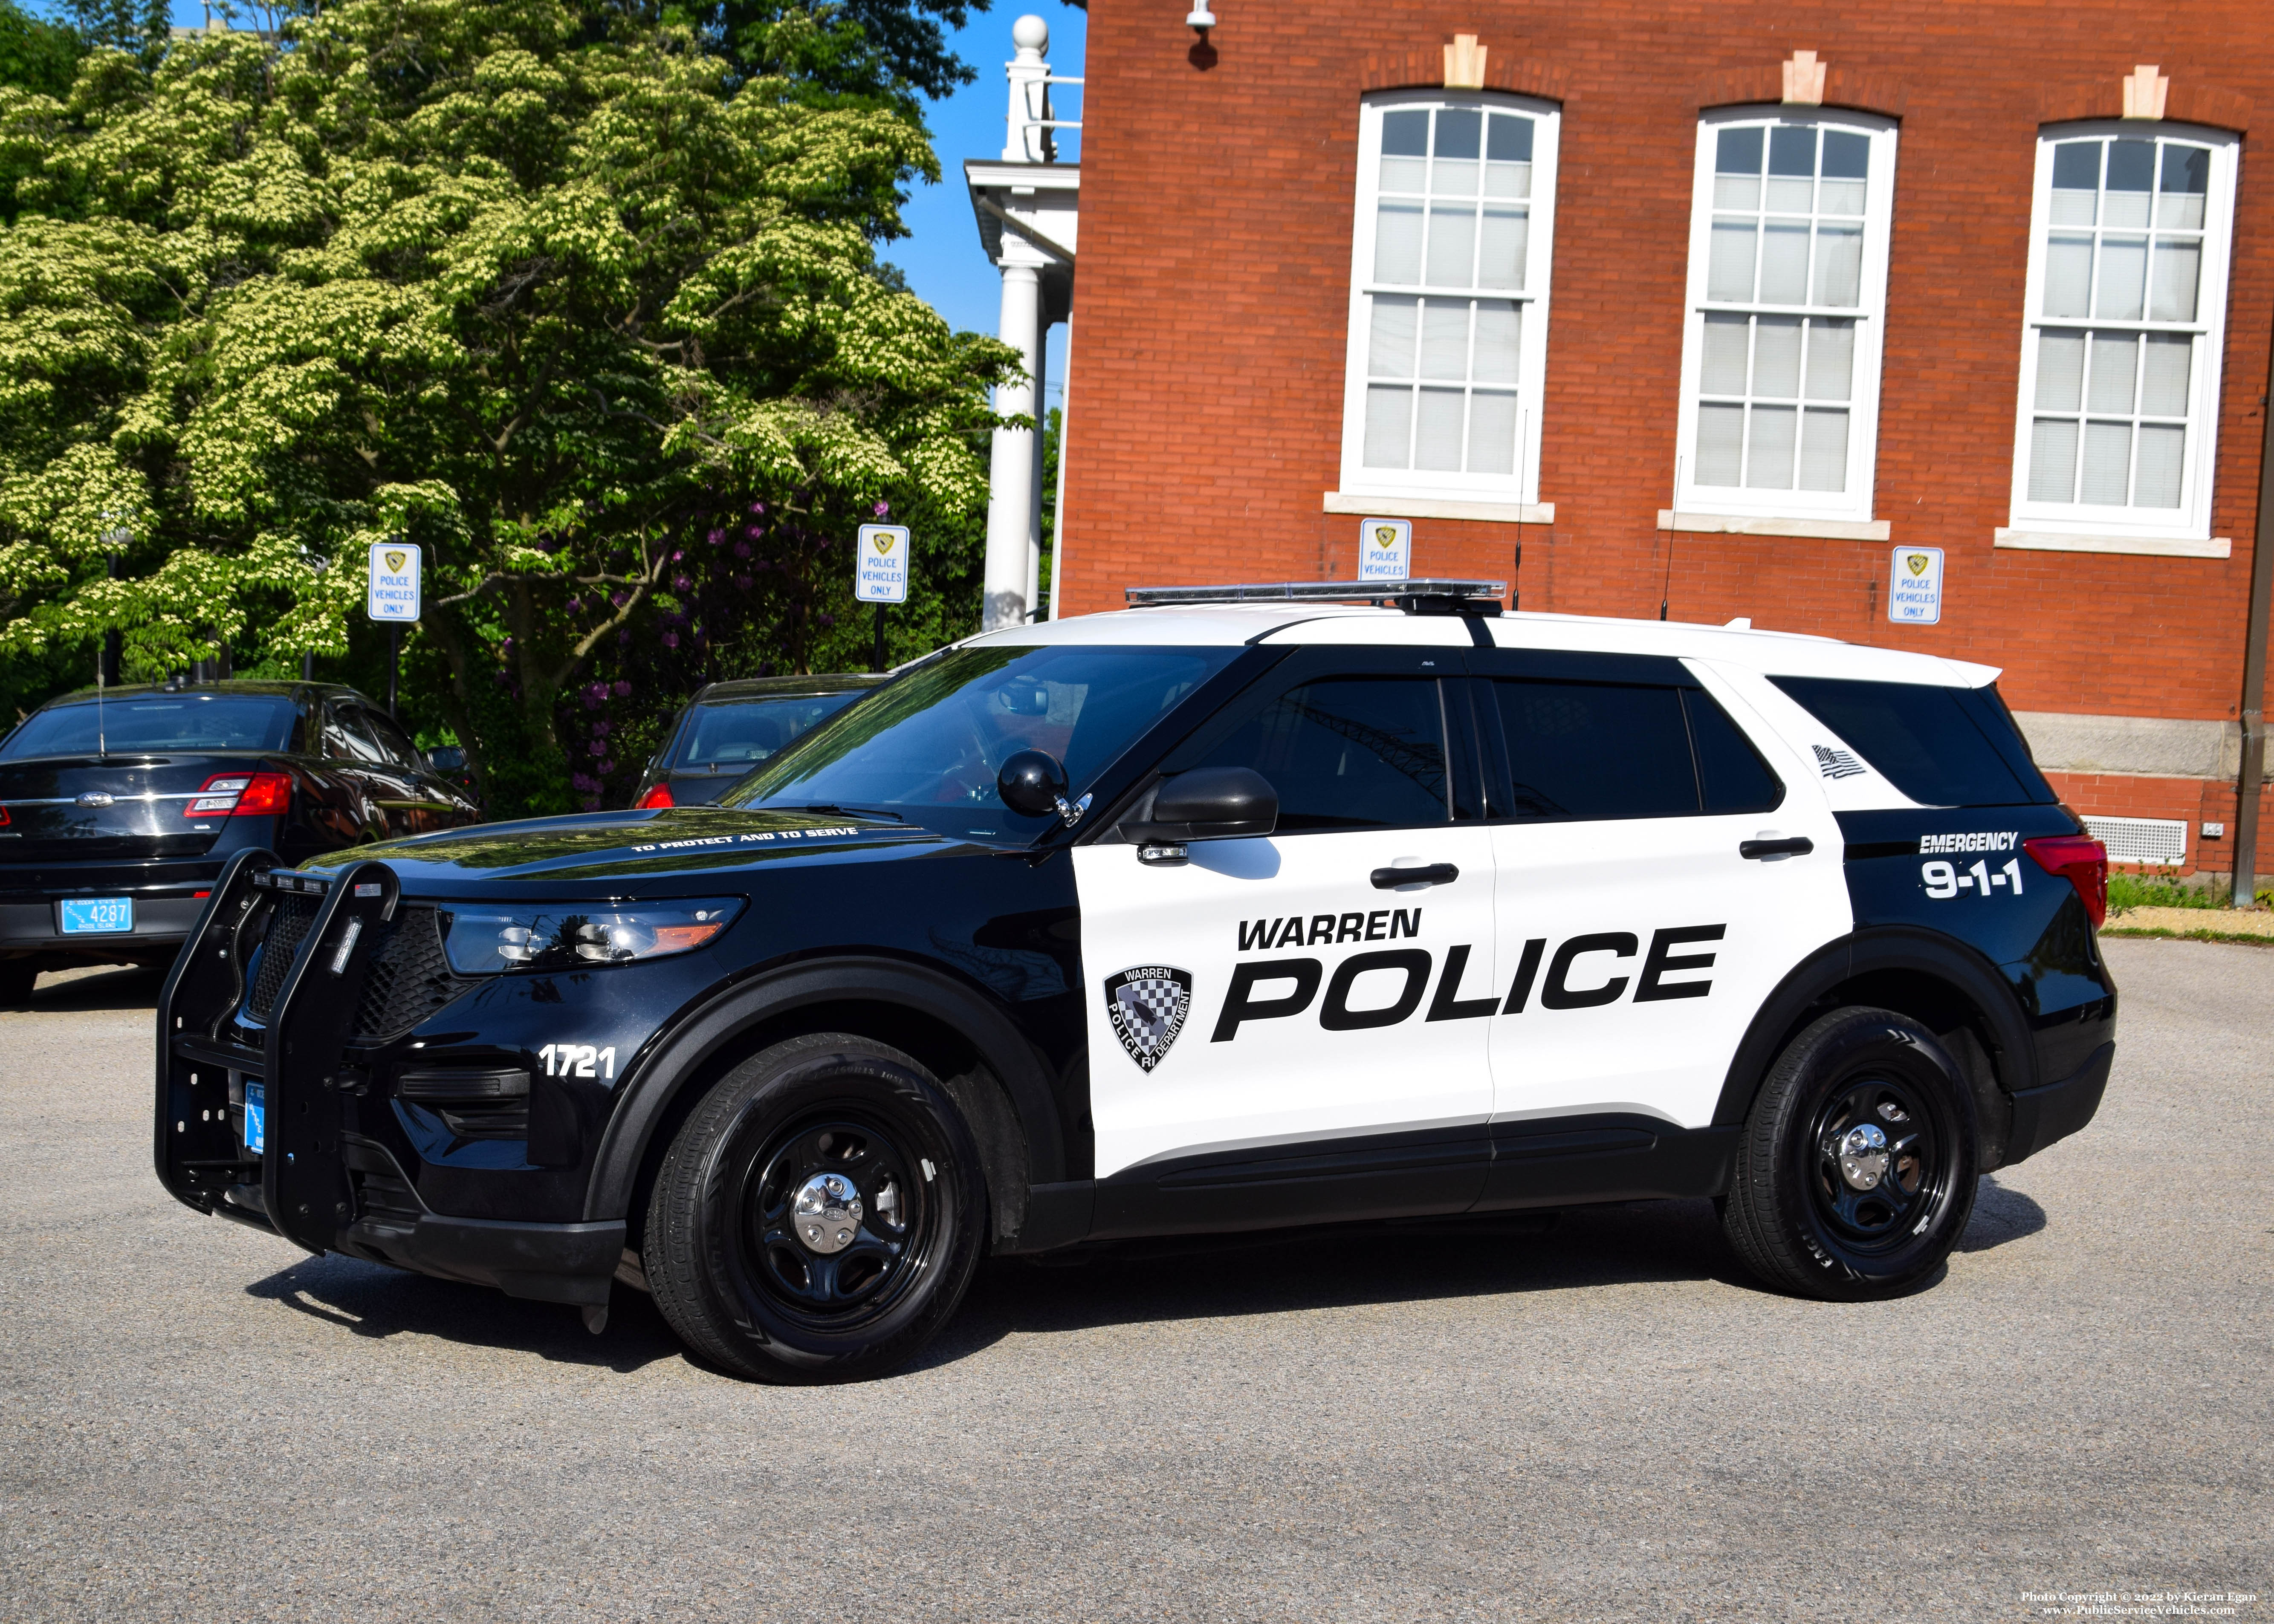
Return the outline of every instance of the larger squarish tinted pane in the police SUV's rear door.
<path id="1" fill-rule="evenodd" d="M 1508 817 L 1683 817 L 1699 810 L 1683 691 L 1615 682 L 1492 685 L 1508 739 Z"/>

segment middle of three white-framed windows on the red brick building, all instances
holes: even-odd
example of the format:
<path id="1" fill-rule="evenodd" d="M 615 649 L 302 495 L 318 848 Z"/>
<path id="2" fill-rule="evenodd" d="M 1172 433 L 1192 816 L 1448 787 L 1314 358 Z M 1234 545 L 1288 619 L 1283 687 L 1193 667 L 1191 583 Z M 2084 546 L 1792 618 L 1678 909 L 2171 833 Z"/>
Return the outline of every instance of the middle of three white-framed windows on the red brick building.
<path id="1" fill-rule="evenodd" d="M 1872 519 L 1894 123 L 1699 121 L 1676 509 Z"/>

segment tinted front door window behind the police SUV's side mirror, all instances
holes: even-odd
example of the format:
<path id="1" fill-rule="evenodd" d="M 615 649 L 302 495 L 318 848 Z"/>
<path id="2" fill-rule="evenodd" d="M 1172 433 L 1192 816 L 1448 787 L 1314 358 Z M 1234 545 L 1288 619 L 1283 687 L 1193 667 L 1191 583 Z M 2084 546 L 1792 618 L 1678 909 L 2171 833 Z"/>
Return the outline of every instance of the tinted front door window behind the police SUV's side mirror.
<path id="1" fill-rule="evenodd" d="M 1444 823 L 1444 707 L 1435 678 L 1323 678 L 1248 716 L 1194 767 L 1253 767 L 1280 830 Z"/>

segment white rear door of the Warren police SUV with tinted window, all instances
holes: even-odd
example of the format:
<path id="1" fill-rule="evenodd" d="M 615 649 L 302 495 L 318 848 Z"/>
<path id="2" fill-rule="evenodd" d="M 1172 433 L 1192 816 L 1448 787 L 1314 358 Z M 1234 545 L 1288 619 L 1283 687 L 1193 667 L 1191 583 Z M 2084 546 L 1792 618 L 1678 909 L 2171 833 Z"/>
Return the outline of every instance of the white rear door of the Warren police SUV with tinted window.
<path id="1" fill-rule="evenodd" d="M 1762 1001 L 1851 928 L 1815 776 L 1678 660 L 1492 651 L 1474 669 L 1501 787 L 1494 1119 L 1706 1126 Z"/>

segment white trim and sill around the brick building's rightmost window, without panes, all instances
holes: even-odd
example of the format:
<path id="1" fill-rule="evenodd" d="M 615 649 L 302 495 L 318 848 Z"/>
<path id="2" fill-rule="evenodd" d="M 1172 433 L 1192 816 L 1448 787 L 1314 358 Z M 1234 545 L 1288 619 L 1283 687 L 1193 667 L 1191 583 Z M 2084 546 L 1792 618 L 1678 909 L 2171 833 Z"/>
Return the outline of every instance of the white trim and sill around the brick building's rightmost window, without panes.
<path id="1" fill-rule="evenodd" d="M 2049 221 L 2053 212 L 2053 146 L 2090 136 L 2174 136 L 2210 148 L 2210 196 L 2204 202 L 2204 280 L 2197 289 L 2197 309 L 2204 314 L 2204 366 L 2197 366 L 2194 378 L 2188 380 L 2188 425 L 2190 430 L 2201 425 L 2201 432 L 2188 434 L 2188 459 L 2181 466 L 2181 489 L 2185 496 L 2176 509 L 2167 509 L 2172 519 L 2165 521 L 2153 519 L 2156 509 L 2151 507 L 2085 507 L 2083 503 L 2028 500 L 2028 441 L 2038 393 L 2038 309 L 2044 298 L 2044 252 L 2051 239 Z M 2201 541 L 2206 544 L 2204 550 L 2188 550 L 2183 555 L 2229 557 L 2231 546 L 2210 537 L 2210 487 L 2219 462 L 2219 384 L 2226 375 L 2226 271 L 2235 241 L 2235 159 L 2240 148 L 2240 139 L 2226 130 L 2140 118 L 2090 118 L 2038 130 L 2038 177 L 2028 202 L 2028 284 L 2022 296 L 2022 378 L 2015 387 L 2012 519 L 1999 530 L 1999 546 L 2090 553 L 2101 550 L 2090 546 L 2092 537 L 2131 537 Z M 2151 328 L 2153 323 L 2060 318 L 2060 325 Z M 2163 553 L 2165 548 L 2153 550 Z"/>

